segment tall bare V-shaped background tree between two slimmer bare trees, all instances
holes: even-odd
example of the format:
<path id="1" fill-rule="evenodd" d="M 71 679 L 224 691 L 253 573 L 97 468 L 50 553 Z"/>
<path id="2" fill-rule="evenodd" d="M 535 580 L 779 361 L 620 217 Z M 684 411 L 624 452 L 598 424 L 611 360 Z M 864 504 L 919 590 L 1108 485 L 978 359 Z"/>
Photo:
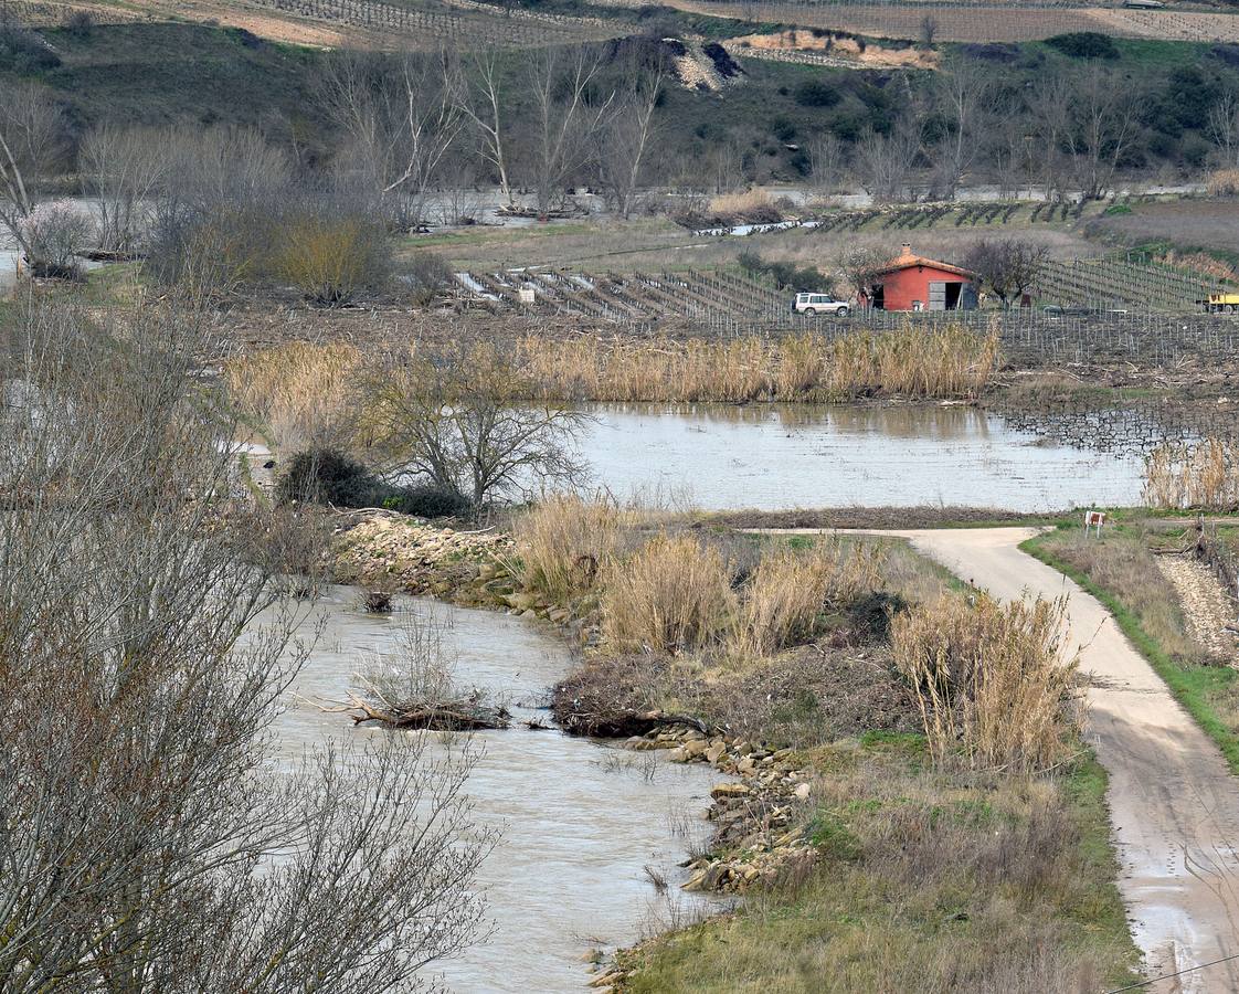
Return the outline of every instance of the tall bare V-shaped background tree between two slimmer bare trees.
<path id="1" fill-rule="evenodd" d="M 593 46 L 541 48 L 529 57 L 525 86 L 533 98 L 527 170 L 538 212 L 546 214 L 589 164 L 617 100 L 595 92 L 603 52 Z"/>

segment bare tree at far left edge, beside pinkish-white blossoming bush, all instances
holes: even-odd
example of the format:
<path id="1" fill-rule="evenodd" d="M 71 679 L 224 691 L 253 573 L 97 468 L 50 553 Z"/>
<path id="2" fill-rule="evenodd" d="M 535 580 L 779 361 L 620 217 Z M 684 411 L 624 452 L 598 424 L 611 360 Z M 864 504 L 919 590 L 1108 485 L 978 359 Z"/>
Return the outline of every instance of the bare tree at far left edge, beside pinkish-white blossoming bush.
<path id="1" fill-rule="evenodd" d="M 64 119 L 47 90 L 6 83 L 0 99 L 0 226 L 22 253 L 31 247 L 24 222 L 42 200 L 64 159 Z"/>

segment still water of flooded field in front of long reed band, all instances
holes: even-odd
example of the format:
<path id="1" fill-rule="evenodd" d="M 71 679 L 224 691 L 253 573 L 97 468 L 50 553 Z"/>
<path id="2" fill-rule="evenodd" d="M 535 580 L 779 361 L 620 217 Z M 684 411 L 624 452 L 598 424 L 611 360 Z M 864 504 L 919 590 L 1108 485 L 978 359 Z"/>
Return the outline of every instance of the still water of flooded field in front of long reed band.
<path id="1" fill-rule="evenodd" d="M 1047 442 L 966 407 L 598 405 L 580 440 L 593 483 L 703 509 L 1121 506 L 1142 464 Z"/>

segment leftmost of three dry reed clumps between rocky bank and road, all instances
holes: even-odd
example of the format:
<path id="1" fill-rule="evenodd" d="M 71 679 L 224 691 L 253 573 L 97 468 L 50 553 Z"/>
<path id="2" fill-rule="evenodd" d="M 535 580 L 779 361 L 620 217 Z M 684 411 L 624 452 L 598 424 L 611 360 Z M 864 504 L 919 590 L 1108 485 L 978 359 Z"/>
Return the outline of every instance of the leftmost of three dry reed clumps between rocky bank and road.
<path id="1" fill-rule="evenodd" d="M 587 594 L 632 523 L 633 512 L 603 495 L 543 498 L 513 524 L 524 589 L 560 605 Z"/>

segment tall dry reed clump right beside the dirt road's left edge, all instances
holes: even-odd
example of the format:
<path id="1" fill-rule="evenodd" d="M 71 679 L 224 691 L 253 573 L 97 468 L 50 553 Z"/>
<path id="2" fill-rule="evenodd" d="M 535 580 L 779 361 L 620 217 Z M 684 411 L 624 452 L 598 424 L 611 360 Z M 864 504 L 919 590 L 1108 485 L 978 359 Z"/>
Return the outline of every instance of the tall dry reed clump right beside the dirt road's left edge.
<path id="1" fill-rule="evenodd" d="M 973 604 L 948 596 L 893 618 L 896 664 L 935 762 L 1032 772 L 1061 757 L 1078 664 L 1066 611 L 1064 599 L 1002 606 L 986 595 Z"/>

